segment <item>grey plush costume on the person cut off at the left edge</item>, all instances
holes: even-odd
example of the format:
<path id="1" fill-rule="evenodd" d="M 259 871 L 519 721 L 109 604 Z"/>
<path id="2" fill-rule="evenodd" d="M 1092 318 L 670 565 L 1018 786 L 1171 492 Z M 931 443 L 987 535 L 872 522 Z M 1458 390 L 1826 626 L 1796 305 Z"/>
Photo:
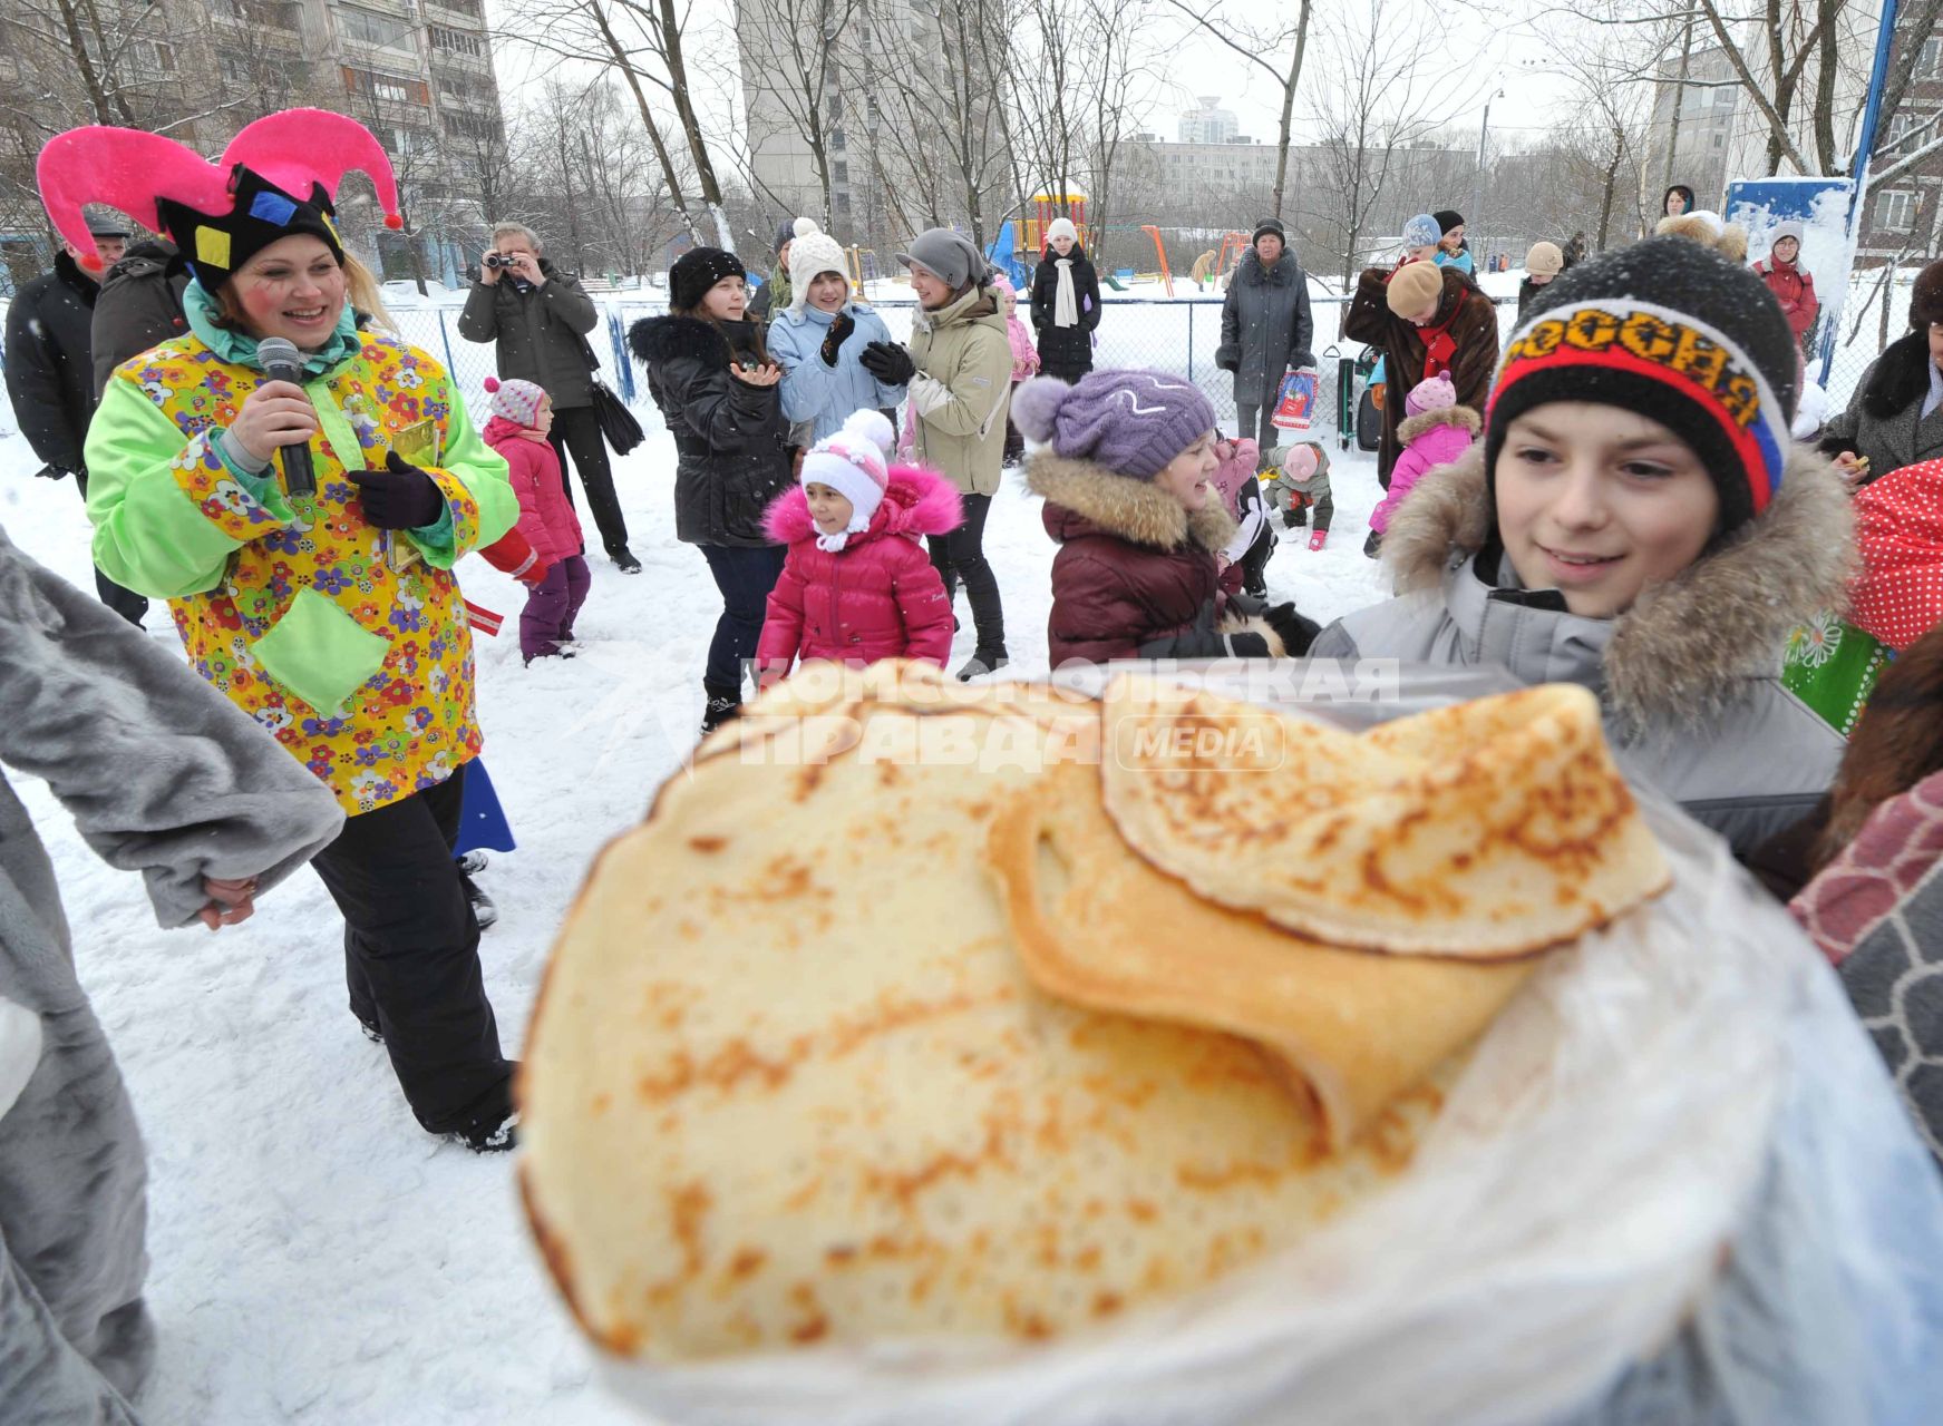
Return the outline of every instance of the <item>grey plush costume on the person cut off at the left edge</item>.
<path id="1" fill-rule="evenodd" d="M 204 876 L 270 888 L 344 824 L 330 791 L 179 653 L 4 532 L 0 760 L 47 779 L 103 861 L 142 872 L 163 927 L 194 921 Z M 155 1352 L 144 1185 L 54 866 L 0 777 L 0 1420 L 134 1420 Z"/>

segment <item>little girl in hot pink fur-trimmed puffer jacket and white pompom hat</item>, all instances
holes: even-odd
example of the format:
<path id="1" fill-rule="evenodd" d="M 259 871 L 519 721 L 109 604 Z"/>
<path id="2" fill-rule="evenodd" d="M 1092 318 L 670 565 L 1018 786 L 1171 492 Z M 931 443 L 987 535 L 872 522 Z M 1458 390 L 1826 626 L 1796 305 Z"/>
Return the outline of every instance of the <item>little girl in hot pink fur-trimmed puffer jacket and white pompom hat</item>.
<path id="1" fill-rule="evenodd" d="M 857 412 L 802 457 L 802 484 L 769 505 L 764 528 L 789 558 L 756 645 L 762 688 L 808 659 L 942 668 L 950 657 L 952 606 L 919 536 L 958 528 L 958 490 L 921 466 L 892 466 L 892 439 L 882 412 Z"/>

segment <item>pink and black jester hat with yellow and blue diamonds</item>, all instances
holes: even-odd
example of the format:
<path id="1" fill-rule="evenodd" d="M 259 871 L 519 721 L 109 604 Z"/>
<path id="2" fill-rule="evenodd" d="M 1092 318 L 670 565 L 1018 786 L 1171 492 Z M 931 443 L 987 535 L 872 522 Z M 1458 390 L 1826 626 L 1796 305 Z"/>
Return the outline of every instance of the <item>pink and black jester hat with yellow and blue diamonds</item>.
<path id="1" fill-rule="evenodd" d="M 350 169 L 377 187 L 387 227 L 404 227 L 398 181 L 369 128 L 326 109 L 286 109 L 245 126 L 222 159 L 206 163 L 173 138 L 140 128 L 89 124 L 56 134 L 41 150 L 41 202 L 54 229 L 99 270 L 82 206 L 103 202 L 167 233 L 196 280 L 222 288 L 237 268 L 278 239 L 319 237 L 338 258 L 336 194 Z"/>

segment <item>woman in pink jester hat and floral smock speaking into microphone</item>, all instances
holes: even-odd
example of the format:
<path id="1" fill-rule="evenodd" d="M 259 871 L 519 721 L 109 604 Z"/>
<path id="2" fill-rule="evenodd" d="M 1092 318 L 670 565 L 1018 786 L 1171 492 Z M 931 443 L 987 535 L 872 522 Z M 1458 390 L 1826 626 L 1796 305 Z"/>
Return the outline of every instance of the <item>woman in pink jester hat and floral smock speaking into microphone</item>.
<path id="1" fill-rule="evenodd" d="M 196 672 L 336 795 L 348 820 L 313 865 L 344 913 L 352 1014 L 418 1123 L 488 1152 L 513 1142 L 513 1065 L 451 855 L 480 752 L 451 567 L 519 503 L 445 369 L 359 330 L 358 309 L 389 319 L 332 221 L 348 169 L 398 227 L 379 142 L 317 109 L 258 119 L 214 165 L 159 134 L 76 128 L 39 179 L 60 233 L 105 202 L 167 233 L 194 274 L 188 332 L 101 394 L 95 563 L 169 600 Z M 297 348 L 301 381 L 266 379 L 268 338 Z M 278 458 L 290 447 L 313 482 Z"/>

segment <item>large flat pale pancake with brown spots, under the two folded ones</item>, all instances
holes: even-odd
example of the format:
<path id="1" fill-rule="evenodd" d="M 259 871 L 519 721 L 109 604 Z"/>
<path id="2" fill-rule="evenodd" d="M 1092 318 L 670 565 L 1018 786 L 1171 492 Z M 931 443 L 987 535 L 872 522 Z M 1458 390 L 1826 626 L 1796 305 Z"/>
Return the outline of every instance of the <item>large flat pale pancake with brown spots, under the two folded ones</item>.
<path id="1" fill-rule="evenodd" d="M 554 948 L 521 1179 L 595 1341 L 678 1362 L 1055 1337 L 1284 1247 L 1407 1162 L 1430 1086 L 1319 1158 L 1312 1098 L 1253 1043 L 1036 989 L 983 859 L 1041 773 L 896 758 L 1040 723 L 857 717 L 828 765 L 670 779 Z"/>

